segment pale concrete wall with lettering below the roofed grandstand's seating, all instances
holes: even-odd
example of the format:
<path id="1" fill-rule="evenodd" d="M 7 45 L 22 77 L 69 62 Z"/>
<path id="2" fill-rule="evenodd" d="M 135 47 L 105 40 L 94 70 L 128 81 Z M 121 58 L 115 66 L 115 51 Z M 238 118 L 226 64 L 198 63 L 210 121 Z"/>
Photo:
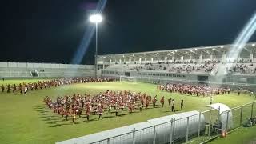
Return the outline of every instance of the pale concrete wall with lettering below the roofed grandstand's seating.
<path id="1" fill-rule="evenodd" d="M 130 72 L 130 71 L 129 71 Z M 125 71 L 102 70 L 102 76 L 120 77 L 125 75 Z M 208 76 L 206 81 L 198 81 L 198 76 Z M 220 78 L 211 74 L 174 74 L 164 72 L 130 72 L 130 77 L 134 77 L 137 82 L 160 82 L 160 83 L 206 83 L 209 85 L 229 85 L 232 87 L 247 87 L 256 89 L 255 75 L 223 75 Z"/>

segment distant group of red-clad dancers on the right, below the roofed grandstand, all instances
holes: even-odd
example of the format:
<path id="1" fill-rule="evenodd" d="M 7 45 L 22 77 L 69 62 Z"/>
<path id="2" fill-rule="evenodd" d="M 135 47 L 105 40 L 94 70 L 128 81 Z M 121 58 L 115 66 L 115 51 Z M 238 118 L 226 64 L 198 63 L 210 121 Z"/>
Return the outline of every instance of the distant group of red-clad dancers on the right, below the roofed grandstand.
<path id="1" fill-rule="evenodd" d="M 203 97 L 210 95 L 230 94 L 231 92 L 230 87 L 213 87 L 181 83 L 158 85 L 157 90 L 166 90 L 170 93 L 190 94 Z"/>

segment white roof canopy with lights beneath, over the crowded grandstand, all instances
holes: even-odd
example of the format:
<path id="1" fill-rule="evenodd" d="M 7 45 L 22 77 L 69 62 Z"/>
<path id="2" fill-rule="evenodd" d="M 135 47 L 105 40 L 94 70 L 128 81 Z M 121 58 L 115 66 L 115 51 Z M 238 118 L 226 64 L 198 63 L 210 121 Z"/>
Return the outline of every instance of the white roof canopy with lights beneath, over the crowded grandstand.
<path id="1" fill-rule="evenodd" d="M 114 59 L 138 59 L 138 58 L 165 58 L 165 57 L 175 57 L 179 58 L 183 56 L 184 58 L 198 58 L 200 55 L 210 57 L 213 55 L 214 58 L 221 58 L 222 54 L 227 54 L 234 45 L 218 45 L 218 46 L 200 46 L 191 47 L 183 49 L 170 49 L 170 50 L 158 50 L 158 51 L 146 51 L 137 53 L 125 53 L 125 54 L 106 54 L 98 55 L 99 61 L 114 61 Z M 254 54 L 256 52 L 256 42 L 247 43 L 240 54 L 241 58 L 249 58 L 249 54 Z"/>

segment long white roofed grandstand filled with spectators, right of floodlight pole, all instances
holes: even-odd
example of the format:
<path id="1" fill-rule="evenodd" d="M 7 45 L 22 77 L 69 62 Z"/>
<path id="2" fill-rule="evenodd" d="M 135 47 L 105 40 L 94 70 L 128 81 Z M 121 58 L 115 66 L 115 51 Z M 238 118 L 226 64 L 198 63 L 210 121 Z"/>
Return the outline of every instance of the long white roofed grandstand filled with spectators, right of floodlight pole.
<path id="1" fill-rule="evenodd" d="M 149 82 L 194 82 L 254 86 L 256 43 L 247 43 L 239 58 L 228 57 L 233 45 L 202 46 L 98 56 L 104 76 L 126 75 Z M 224 70 L 221 68 L 225 67 Z M 236 76 L 235 78 L 233 76 Z M 225 77 L 224 77 L 225 76 Z M 219 78 L 223 77 L 223 78 Z"/>

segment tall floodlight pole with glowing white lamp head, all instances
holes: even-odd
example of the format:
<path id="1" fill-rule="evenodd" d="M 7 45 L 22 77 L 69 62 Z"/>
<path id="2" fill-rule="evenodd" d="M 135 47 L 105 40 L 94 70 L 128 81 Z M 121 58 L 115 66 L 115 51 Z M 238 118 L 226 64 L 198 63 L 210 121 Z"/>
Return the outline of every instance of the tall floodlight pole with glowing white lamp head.
<path id="1" fill-rule="evenodd" d="M 95 37 L 96 37 L 96 44 L 95 44 L 95 78 L 97 77 L 97 70 L 98 70 L 98 23 L 102 22 L 103 18 L 101 14 L 92 14 L 89 18 L 90 22 L 95 23 L 96 31 L 95 31 Z"/>

